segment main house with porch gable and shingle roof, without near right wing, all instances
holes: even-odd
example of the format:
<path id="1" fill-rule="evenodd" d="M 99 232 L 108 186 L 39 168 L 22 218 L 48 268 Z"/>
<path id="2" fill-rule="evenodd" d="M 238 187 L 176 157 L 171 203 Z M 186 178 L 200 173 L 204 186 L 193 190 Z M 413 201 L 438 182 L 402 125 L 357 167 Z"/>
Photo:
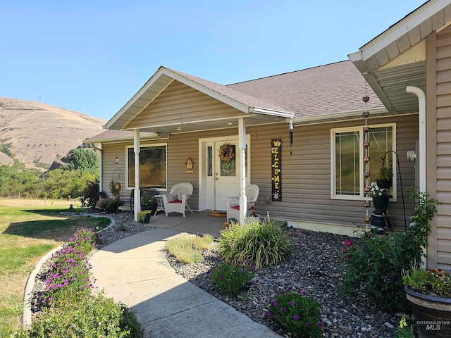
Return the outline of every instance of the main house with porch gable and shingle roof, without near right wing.
<path id="1" fill-rule="evenodd" d="M 259 186 L 261 215 L 352 235 L 366 225 L 364 111 L 370 112 L 375 141 L 372 177 L 376 180 L 381 156 L 397 151 L 401 171 L 394 165 L 395 182 L 402 178 L 404 189 L 414 186 L 415 165 L 407 161 L 407 151 L 415 150 L 419 137 L 418 114 L 390 113 L 351 61 L 228 86 L 161 67 L 111 118 L 106 132 L 85 142 L 101 143 L 101 189 L 108 193 L 111 180 L 121 182 L 124 199 L 136 186 L 135 161 L 145 167 L 159 151 L 159 162 L 166 163 L 157 175 L 161 179 L 144 182 L 142 176 L 152 170 L 140 167 L 140 186 L 165 193 L 173 184 L 190 182 L 193 210 L 226 210 L 226 197 L 240 196 L 242 185 L 252 183 Z M 231 169 L 218 156 L 224 144 L 234 147 Z M 404 229 L 412 204 L 408 194 L 403 203 L 402 189 L 394 186 L 390 220 Z"/>

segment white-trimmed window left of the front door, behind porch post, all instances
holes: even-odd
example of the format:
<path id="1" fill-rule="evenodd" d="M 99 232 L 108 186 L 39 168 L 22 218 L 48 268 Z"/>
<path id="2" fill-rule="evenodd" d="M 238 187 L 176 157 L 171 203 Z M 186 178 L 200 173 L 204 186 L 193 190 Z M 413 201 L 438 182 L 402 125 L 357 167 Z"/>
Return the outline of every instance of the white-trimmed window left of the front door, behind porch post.
<path id="1" fill-rule="evenodd" d="M 140 147 L 140 187 L 167 189 L 166 144 L 152 144 Z M 135 187 L 135 151 L 127 147 L 127 187 Z"/>

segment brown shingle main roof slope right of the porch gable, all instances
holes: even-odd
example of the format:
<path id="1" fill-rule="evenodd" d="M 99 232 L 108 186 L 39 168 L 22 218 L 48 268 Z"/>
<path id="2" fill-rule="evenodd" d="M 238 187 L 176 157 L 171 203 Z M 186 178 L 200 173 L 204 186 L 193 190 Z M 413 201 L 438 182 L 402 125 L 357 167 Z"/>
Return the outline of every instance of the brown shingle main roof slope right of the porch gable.
<path id="1" fill-rule="evenodd" d="M 274 102 L 284 111 L 295 113 L 295 118 L 365 108 L 362 101 L 365 80 L 351 61 L 229 84 L 227 87 Z M 370 97 L 367 109 L 383 107 L 368 84 L 366 92 Z"/>

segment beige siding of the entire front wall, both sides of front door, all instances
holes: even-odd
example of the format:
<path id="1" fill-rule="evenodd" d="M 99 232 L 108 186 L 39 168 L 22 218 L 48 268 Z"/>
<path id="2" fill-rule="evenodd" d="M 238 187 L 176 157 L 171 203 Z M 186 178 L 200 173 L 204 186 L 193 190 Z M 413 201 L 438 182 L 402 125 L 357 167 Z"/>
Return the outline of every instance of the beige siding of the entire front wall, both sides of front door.
<path id="1" fill-rule="evenodd" d="M 335 225 L 365 225 L 365 208 L 362 201 L 330 199 L 330 129 L 363 125 L 364 121 L 354 120 L 343 123 L 323 123 L 295 127 L 294 144 L 290 148 L 288 125 L 278 123 L 247 127 L 250 134 L 250 161 L 252 184 L 259 185 L 257 210 L 272 218 L 298 222 L 317 222 Z M 407 150 L 415 149 L 418 139 L 418 115 L 394 116 L 370 119 L 369 124 L 397 124 L 397 153 L 400 158 L 404 189 L 414 185 L 414 163 L 407 162 Z M 166 142 L 168 145 L 168 190 L 178 182 L 190 182 L 194 192 L 190 199 L 193 210 L 199 208 L 199 139 L 237 135 L 237 128 L 173 134 L 169 139 L 144 144 Z M 282 139 L 282 201 L 271 201 L 271 139 Z M 125 175 L 125 146 L 104 144 L 104 189 L 116 168 L 123 169 Z M 290 156 L 290 151 L 292 155 Z M 216 156 L 217 154 L 214 154 Z M 114 158 L 120 158 L 114 164 Z M 194 162 L 194 173 L 186 173 L 187 158 Z M 375 160 L 376 161 L 376 160 Z M 381 160 L 379 160 L 381 161 Z M 374 174 L 376 175 L 376 174 Z M 376 178 L 376 177 L 374 177 Z M 399 178 L 399 177 L 398 177 Z M 124 181 L 125 182 L 125 181 Z M 408 194 L 406 201 L 407 220 L 412 215 L 412 205 Z M 266 201 L 270 201 L 267 203 Z M 397 202 L 389 204 L 390 218 L 397 227 L 404 228 L 404 215 L 400 188 Z M 372 212 L 372 210 L 371 210 Z"/>

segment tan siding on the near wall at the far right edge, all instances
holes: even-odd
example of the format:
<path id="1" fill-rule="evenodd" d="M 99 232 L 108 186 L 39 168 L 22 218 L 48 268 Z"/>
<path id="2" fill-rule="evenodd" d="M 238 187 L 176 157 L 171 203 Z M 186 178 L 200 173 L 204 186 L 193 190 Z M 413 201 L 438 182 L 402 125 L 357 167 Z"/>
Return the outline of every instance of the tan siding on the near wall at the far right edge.
<path id="1" fill-rule="evenodd" d="M 451 27 L 436 35 L 436 196 L 438 206 L 436 224 L 436 264 L 451 268 Z M 429 57 L 429 55 L 428 55 Z M 429 130 L 428 130 L 429 131 Z M 428 173 L 430 175 L 430 173 Z"/>

